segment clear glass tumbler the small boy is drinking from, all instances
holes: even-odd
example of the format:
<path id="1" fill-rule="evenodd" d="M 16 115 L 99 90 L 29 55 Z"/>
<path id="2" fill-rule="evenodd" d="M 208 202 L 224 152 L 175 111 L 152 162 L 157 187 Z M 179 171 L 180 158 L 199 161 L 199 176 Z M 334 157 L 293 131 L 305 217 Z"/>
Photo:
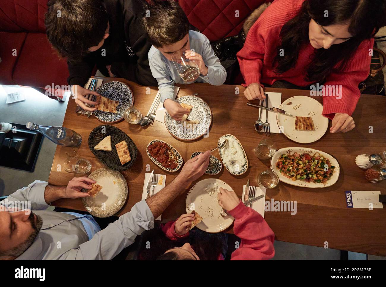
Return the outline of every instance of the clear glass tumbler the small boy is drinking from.
<path id="1" fill-rule="evenodd" d="M 200 69 L 196 61 L 186 59 L 185 50 L 174 52 L 171 59 L 184 82 L 193 82 L 200 76 Z"/>

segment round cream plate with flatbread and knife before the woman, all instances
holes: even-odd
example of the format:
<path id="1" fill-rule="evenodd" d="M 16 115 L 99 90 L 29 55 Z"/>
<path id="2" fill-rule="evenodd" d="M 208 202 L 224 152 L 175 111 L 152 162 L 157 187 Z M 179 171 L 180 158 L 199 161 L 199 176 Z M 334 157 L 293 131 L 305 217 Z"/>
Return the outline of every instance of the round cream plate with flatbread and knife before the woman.
<path id="1" fill-rule="evenodd" d="M 288 105 L 289 103 L 291 104 Z M 299 131 L 295 129 L 295 117 L 277 114 L 276 121 L 279 129 L 282 126 L 281 130 L 291 141 L 296 141 L 296 143 L 313 143 L 322 138 L 327 131 L 328 118 L 322 115 L 323 106 L 312 97 L 290 97 L 280 105 L 279 109 L 283 109 L 298 117 L 312 117 L 315 131 Z"/>

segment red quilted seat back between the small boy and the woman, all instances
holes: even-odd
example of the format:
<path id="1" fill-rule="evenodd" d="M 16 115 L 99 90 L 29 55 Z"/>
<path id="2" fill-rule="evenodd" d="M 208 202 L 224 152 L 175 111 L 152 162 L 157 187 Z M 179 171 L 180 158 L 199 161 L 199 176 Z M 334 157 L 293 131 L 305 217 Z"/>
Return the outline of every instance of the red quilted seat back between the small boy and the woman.
<path id="1" fill-rule="evenodd" d="M 189 22 L 212 41 L 239 33 L 245 18 L 265 0 L 178 0 Z M 236 10 L 239 17 L 236 17 Z"/>

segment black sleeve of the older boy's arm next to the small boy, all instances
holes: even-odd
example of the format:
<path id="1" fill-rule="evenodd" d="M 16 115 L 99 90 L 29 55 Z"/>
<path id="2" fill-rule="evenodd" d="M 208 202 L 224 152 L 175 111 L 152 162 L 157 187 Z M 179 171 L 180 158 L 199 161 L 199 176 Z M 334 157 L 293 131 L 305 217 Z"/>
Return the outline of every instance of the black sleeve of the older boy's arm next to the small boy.
<path id="1" fill-rule="evenodd" d="M 113 62 L 111 72 L 117 76 L 137 82 L 143 86 L 157 86 L 156 79 L 151 74 L 147 53 L 151 44 L 147 41 L 142 28 L 141 13 L 134 13 L 125 9 L 123 15 L 125 38 L 127 46 L 130 46 L 134 56 L 129 61 Z M 127 51 L 125 51 L 127 53 Z"/>

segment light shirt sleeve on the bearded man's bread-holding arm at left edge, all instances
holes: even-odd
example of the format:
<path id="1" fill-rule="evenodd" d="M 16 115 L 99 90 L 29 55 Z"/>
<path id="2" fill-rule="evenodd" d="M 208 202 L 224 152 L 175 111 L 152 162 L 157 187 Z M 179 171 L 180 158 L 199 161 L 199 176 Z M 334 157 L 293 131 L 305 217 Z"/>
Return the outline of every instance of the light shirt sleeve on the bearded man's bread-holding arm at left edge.
<path id="1" fill-rule="evenodd" d="M 47 181 L 35 180 L 28 186 L 20 188 L 0 202 L 1 205 L 20 209 L 45 210 L 49 206 L 44 200 L 44 191 L 48 185 Z"/>

